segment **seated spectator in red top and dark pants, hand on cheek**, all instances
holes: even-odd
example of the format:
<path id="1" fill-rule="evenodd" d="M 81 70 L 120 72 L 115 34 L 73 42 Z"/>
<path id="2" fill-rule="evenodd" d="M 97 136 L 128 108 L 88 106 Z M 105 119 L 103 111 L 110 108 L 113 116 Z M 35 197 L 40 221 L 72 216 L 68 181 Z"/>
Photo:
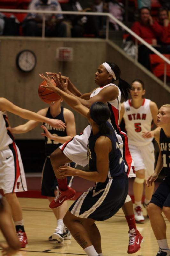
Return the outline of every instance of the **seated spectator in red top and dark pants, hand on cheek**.
<path id="1" fill-rule="evenodd" d="M 152 44 L 152 46 L 157 46 L 157 39 L 163 35 L 162 29 L 158 22 L 152 19 L 150 10 L 147 7 L 139 10 L 139 21 L 135 21 L 131 29 L 148 44 Z M 151 51 L 140 42 L 138 44 L 138 61 L 150 70 L 149 54 Z"/>

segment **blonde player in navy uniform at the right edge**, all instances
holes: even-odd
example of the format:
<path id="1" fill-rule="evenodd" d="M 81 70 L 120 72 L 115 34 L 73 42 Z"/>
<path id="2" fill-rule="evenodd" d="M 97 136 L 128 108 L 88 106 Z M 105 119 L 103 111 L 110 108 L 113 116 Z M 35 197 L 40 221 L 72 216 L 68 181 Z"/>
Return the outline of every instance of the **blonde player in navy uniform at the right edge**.
<path id="1" fill-rule="evenodd" d="M 162 212 L 170 221 L 170 105 L 163 105 L 158 112 L 157 125 L 161 128 L 154 134 L 159 145 L 159 156 L 154 173 L 148 178 L 147 185 L 153 182 L 164 167 L 165 178 L 152 196 L 147 207 L 154 235 L 159 245 L 157 256 L 170 256 L 166 240 L 166 222 Z"/>

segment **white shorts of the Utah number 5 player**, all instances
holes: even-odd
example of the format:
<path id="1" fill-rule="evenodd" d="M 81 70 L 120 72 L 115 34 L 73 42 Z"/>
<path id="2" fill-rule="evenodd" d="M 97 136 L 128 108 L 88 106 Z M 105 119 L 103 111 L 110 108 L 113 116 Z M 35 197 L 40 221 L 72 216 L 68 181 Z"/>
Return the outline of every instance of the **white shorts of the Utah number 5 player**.
<path id="1" fill-rule="evenodd" d="M 145 180 L 149 178 L 154 172 L 154 146 L 151 142 L 146 146 L 129 145 L 130 154 L 133 158 L 135 171 L 145 169 Z"/>

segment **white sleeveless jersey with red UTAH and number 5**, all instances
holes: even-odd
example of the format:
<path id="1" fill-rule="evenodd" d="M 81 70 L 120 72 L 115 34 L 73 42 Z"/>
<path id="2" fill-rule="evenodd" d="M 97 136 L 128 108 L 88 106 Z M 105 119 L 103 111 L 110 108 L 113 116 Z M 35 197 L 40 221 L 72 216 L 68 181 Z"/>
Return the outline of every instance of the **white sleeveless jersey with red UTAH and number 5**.
<path id="1" fill-rule="evenodd" d="M 153 140 L 153 138 L 144 139 L 142 137 L 142 132 L 151 131 L 153 118 L 150 102 L 151 100 L 143 99 L 143 103 L 139 108 L 132 107 L 131 100 L 123 102 L 125 110 L 123 118 L 129 145 L 146 146 Z"/>

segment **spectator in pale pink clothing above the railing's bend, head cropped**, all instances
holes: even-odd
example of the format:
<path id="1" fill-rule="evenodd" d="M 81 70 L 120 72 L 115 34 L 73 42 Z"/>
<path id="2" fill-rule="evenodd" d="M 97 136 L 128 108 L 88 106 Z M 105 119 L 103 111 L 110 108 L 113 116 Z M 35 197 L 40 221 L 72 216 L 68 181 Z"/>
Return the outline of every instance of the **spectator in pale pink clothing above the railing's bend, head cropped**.
<path id="1" fill-rule="evenodd" d="M 118 0 L 107 0 L 108 12 L 116 19 L 123 21 L 124 6 Z M 119 30 L 121 27 L 112 19 L 109 19 L 110 25 L 113 29 Z"/>

